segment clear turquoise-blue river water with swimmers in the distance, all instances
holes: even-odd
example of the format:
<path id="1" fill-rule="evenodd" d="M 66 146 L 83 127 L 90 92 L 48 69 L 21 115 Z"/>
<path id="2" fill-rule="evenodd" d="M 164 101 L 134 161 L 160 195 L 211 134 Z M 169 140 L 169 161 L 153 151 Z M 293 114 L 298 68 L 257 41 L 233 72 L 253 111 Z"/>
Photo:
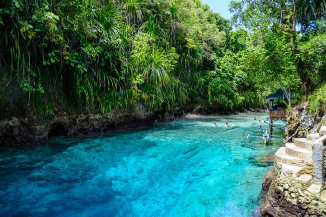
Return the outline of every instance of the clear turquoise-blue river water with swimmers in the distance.
<path id="1" fill-rule="evenodd" d="M 207 134 L 225 122 L 240 128 Z M 264 159 L 281 145 L 246 139 L 259 125 L 252 115 L 179 119 L 3 148 L 0 215 L 250 216 L 270 167 Z"/>

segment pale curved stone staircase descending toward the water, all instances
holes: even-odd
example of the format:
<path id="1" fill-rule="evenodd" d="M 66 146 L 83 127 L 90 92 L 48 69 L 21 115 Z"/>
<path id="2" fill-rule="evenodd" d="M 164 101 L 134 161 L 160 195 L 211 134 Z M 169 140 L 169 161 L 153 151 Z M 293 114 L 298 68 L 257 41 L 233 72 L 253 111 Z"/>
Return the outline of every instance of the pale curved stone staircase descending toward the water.
<path id="1" fill-rule="evenodd" d="M 275 171 L 279 177 L 288 177 L 290 187 L 299 188 L 301 191 L 307 190 L 326 201 L 326 190 L 322 190 L 322 181 L 320 183 L 320 178 L 317 177 L 320 176 L 320 170 L 319 175 L 316 175 L 318 165 L 316 166 L 314 157 L 314 155 L 317 155 L 315 148 L 317 143 L 320 147 L 321 142 L 322 151 L 321 139 L 326 135 L 326 126 L 322 126 L 318 129 L 318 132 L 309 134 L 306 138 L 294 139 L 294 143 L 286 143 L 285 147 L 278 149 L 275 153 Z M 287 184 L 285 182 L 283 185 L 286 188 Z"/>

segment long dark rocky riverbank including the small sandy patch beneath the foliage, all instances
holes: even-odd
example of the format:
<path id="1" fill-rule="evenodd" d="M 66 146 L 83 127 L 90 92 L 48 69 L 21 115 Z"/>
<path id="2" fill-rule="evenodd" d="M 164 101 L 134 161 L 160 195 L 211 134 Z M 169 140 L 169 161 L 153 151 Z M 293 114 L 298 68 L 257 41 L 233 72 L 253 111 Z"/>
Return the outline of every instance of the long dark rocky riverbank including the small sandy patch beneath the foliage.
<path id="1" fill-rule="evenodd" d="M 258 108 L 245 110 L 246 114 L 258 113 Z M 237 113 L 244 114 L 244 113 Z M 213 108 L 176 108 L 173 111 L 149 112 L 142 106 L 128 111 L 112 111 L 108 114 L 61 114 L 56 117 L 12 118 L 0 122 L 0 146 L 29 146 L 46 142 L 53 136 L 74 137 L 101 133 L 127 131 L 148 127 L 156 122 L 170 122 L 176 118 L 198 118 L 222 115 Z"/>

